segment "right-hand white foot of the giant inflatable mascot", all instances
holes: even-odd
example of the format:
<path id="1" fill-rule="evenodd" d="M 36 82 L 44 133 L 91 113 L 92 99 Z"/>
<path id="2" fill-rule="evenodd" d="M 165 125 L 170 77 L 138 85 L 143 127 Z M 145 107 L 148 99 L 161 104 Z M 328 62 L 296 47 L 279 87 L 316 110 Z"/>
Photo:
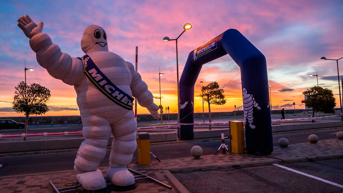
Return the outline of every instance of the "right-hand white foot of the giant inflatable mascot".
<path id="1" fill-rule="evenodd" d="M 134 184 L 134 177 L 132 173 L 124 167 L 109 167 L 106 178 L 117 186 L 128 186 Z"/>

